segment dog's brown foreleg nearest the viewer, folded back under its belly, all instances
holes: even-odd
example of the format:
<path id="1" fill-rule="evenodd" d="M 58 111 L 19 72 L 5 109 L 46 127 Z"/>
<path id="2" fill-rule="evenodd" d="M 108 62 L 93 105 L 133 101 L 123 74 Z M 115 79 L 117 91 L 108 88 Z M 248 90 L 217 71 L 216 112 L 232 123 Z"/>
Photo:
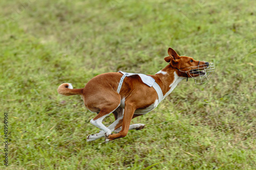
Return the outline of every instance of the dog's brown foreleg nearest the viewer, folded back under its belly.
<path id="1" fill-rule="evenodd" d="M 136 107 L 133 104 L 130 104 L 129 102 L 125 102 L 122 130 L 117 134 L 111 134 L 107 136 L 107 138 L 105 139 L 105 142 L 108 142 L 109 140 L 114 140 L 120 137 L 125 137 L 127 135 L 135 110 L 136 110 Z"/>

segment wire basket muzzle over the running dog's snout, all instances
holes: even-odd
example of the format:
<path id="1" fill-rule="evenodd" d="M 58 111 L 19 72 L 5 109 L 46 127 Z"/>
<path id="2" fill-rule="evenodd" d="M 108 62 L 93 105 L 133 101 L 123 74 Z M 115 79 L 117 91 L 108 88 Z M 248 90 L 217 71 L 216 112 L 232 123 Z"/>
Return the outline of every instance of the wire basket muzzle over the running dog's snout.
<path id="1" fill-rule="evenodd" d="M 214 74 L 215 66 L 214 63 L 207 63 L 198 66 L 182 68 L 179 69 L 179 71 L 185 72 L 191 78 L 195 79 L 196 84 L 203 84 L 207 82 Z"/>

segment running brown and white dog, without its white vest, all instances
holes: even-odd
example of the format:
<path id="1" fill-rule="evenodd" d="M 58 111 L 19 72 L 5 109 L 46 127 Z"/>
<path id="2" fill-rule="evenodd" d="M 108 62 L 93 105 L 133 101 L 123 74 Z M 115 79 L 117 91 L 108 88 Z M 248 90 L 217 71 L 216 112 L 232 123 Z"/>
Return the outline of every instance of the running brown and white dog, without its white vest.
<path id="1" fill-rule="evenodd" d="M 170 47 L 168 54 L 169 56 L 164 60 L 169 64 L 154 76 L 148 75 L 160 86 L 163 98 L 172 92 L 183 79 L 191 78 L 187 72 L 182 72 L 180 69 L 209 65 L 208 62 L 179 56 Z M 130 125 L 131 120 L 152 111 L 159 104 L 159 95 L 156 90 L 144 84 L 138 75 L 125 77 L 118 93 L 117 88 L 122 76 L 123 74 L 120 72 L 109 72 L 94 77 L 84 88 L 73 89 L 69 83 L 63 83 L 58 87 L 59 94 L 81 95 L 86 108 L 91 112 L 98 113 L 90 123 L 101 131 L 87 136 L 87 141 L 105 136 L 105 142 L 108 142 L 126 136 L 129 130 L 143 129 L 145 126 L 143 124 Z M 109 127 L 105 127 L 102 120 L 111 113 L 115 116 L 115 122 Z M 111 134 L 114 131 L 119 133 Z"/>

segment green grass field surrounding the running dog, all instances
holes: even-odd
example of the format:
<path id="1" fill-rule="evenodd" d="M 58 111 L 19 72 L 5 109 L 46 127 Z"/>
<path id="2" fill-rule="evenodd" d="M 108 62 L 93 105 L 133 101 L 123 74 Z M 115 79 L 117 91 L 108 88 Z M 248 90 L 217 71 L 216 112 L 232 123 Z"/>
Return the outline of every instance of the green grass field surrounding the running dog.
<path id="1" fill-rule="evenodd" d="M 256 169 L 255 1 L 1 1 L 0 23 L 6 168 Z M 155 74 L 169 46 L 214 62 L 215 74 L 182 81 L 132 120 L 145 129 L 86 142 L 99 131 L 95 113 L 57 87 L 118 70 Z M 3 142 L 0 153 L 4 169 Z"/>

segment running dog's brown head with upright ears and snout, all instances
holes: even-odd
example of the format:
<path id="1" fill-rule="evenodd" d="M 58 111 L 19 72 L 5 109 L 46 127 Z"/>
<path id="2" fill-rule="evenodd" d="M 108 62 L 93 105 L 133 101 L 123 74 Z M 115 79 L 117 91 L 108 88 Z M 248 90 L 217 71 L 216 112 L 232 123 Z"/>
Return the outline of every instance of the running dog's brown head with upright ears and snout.
<path id="1" fill-rule="evenodd" d="M 176 72 L 180 77 L 195 78 L 204 76 L 205 72 L 203 70 L 209 66 L 208 62 L 197 61 L 191 57 L 179 56 L 173 48 L 170 47 L 168 49 L 168 54 L 169 56 L 165 57 L 164 60 L 179 70 Z"/>

